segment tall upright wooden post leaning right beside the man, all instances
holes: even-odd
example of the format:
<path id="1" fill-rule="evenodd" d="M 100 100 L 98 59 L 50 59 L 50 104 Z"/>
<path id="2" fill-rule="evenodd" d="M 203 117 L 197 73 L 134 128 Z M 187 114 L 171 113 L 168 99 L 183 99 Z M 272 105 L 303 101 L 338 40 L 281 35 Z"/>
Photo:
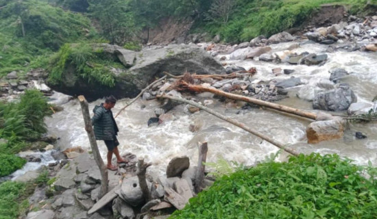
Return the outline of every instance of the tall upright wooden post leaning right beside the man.
<path id="1" fill-rule="evenodd" d="M 90 148 L 92 149 L 99 172 L 101 172 L 101 190 L 99 192 L 99 198 L 102 198 L 108 192 L 108 168 L 106 168 L 106 165 L 99 154 L 97 141 L 95 140 L 95 134 L 92 127 L 92 121 L 90 120 L 89 116 L 88 101 L 86 101 L 85 97 L 82 95 L 78 96 L 78 99 L 81 105 L 82 116 L 84 117 L 85 130 L 86 133 L 88 133 Z"/>

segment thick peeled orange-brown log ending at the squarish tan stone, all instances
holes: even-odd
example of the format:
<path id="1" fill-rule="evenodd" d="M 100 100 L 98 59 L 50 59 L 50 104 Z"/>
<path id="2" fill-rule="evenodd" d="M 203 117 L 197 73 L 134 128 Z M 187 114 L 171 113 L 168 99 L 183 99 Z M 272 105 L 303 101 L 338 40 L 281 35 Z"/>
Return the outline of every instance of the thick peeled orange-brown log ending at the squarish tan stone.
<path id="1" fill-rule="evenodd" d="M 237 101 L 245 101 L 247 103 L 254 103 L 256 105 L 269 107 L 273 110 L 278 110 L 278 111 L 281 111 L 281 112 L 287 112 L 289 114 L 295 114 L 297 116 L 302 116 L 304 118 L 311 118 L 313 120 L 315 120 L 317 118 L 316 114 L 313 114 L 311 112 L 306 112 L 304 110 L 298 110 L 298 109 L 295 109 L 293 107 L 287 107 L 287 106 L 280 105 L 280 104 L 277 104 L 277 103 L 270 103 L 270 102 L 267 102 L 267 101 L 261 101 L 259 99 L 255 99 L 255 98 L 248 97 L 248 96 L 242 96 L 242 95 L 232 94 L 232 93 L 229 93 L 229 92 L 223 92 L 222 90 L 218 90 L 216 88 L 208 88 L 208 87 L 204 87 L 204 86 L 193 85 L 193 84 L 190 84 L 190 83 L 186 83 L 185 81 L 180 81 L 179 83 L 180 84 L 178 85 L 178 87 L 176 86 L 176 90 L 190 90 L 190 91 L 193 91 L 193 92 L 212 92 L 212 93 L 217 94 L 219 96 L 225 96 L 228 99 L 233 99 L 233 100 L 237 100 Z"/>

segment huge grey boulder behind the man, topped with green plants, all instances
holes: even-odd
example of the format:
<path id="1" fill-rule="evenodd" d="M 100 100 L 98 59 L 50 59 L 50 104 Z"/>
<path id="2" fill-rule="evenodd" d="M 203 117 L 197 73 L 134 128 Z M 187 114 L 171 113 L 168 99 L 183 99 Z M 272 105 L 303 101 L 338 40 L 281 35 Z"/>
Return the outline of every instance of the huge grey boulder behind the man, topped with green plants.
<path id="1" fill-rule="evenodd" d="M 80 77 L 71 62 L 66 62 L 61 82 L 53 83 L 48 79 L 47 85 L 58 92 L 71 96 L 82 94 L 89 101 L 93 101 L 110 94 L 117 98 L 134 97 L 156 76 L 162 76 L 164 71 L 173 75 L 182 75 L 186 70 L 198 75 L 225 73 L 219 62 L 195 44 L 170 44 L 167 47 L 140 52 L 126 51 L 110 44 L 95 44 L 93 47 L 103 49 L 104 59 L 123 62 L 126 67 L 112 69 L 110 74 L 115 81 L 112 88 Z"/>

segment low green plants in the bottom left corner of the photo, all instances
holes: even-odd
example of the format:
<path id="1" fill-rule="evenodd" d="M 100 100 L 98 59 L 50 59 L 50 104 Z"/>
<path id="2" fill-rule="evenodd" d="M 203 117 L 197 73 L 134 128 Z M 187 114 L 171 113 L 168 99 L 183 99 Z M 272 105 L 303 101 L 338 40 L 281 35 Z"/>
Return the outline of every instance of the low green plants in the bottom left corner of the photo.
<path id="1" fill-rule="evenodd" d="M 31 183 L 5 181 L 0 184 L 0 219 L 18 218 L 25 213 L 29 202 L 27 196 L 34 192 Z"/>

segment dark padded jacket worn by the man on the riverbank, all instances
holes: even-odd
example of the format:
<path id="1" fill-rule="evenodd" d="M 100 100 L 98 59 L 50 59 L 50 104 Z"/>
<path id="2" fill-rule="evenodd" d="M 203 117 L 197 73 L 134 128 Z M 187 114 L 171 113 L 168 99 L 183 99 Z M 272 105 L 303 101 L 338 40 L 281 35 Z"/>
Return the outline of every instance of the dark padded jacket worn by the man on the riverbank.
<path id="1" fill-rule="evenodd" d="M 93 112 L 92 125 L 94 125 L 95 139 L 114 140 L 119 129 L 111 110 L 106 110 L 104 103 L 101 103 L 101 105 L 95 106 Z"/>

